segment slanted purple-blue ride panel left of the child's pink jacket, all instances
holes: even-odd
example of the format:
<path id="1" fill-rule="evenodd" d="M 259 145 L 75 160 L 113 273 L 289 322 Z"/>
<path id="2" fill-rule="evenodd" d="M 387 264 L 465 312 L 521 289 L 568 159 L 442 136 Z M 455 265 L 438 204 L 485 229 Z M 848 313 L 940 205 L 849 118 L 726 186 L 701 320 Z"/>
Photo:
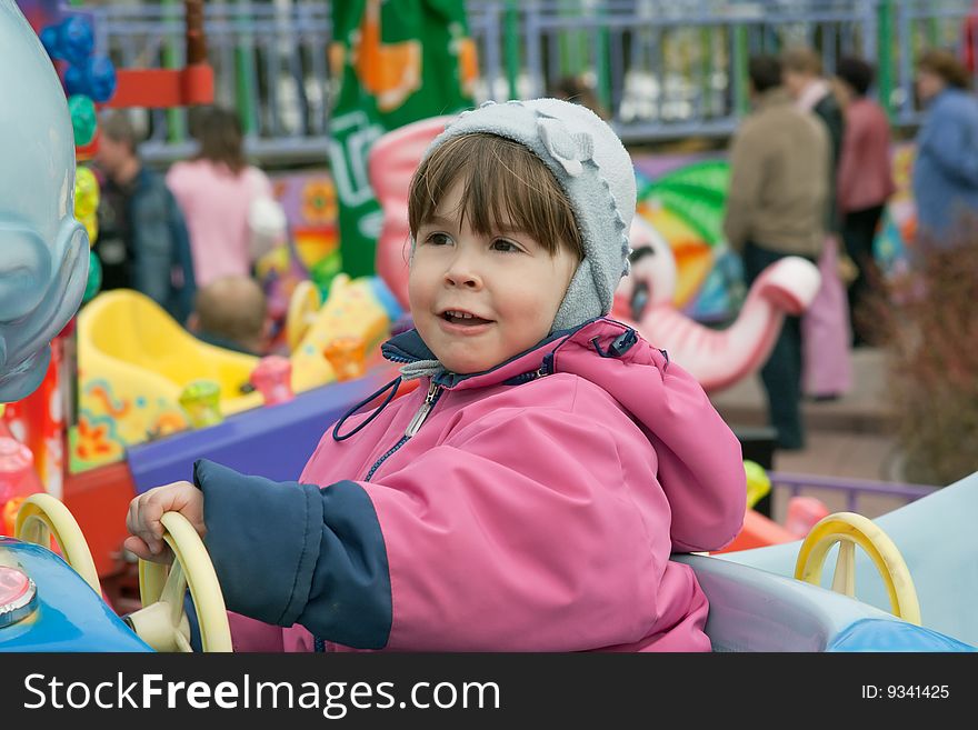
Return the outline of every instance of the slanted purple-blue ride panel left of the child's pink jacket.
<path id="1" fill-rule="evenodd" d="M 357 380 L 300 393 L 287 403 L 229 416 L 218 426 L 132 447 L 127 459 L 136 492 L 189 480 L 193 462 L 201 458 L 276 481 L 298 480 L 326 430 L 397 374 L 395 368 L 383 367 Z"/>

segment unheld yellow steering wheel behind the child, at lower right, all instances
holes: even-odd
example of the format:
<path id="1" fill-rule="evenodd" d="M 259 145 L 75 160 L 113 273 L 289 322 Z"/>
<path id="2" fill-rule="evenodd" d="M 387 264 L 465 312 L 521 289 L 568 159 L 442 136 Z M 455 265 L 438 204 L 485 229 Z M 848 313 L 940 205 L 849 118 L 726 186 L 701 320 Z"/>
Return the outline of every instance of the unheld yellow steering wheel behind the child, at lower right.
<path id="1" fill-rule="evenodd" d="M 829 549 L 839 543 L 832 590 L 856 594 L 856 546 L 862 548 L 879 571 L 890 599 L 890 610 L 905 621 L 920 626 L 920 604 L 910 570 L 897 546 L 871 520 L 854 512 L 836 512 L 819 520 L 801 542 L 795 578 L 821 584 L 821 569 Z"/>

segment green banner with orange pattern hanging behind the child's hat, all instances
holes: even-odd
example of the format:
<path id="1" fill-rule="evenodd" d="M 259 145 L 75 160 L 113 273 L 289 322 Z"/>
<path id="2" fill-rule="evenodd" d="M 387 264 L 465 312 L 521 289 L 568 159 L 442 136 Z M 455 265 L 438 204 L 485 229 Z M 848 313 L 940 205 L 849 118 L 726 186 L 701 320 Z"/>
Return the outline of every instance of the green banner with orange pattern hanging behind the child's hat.
<path id="1" fill-rule="evenodd" d="M 375 271 L 381 210 L 367 154 L 387 131 L 472 106 L 475 43 L 458 0 L 332 3 L 330 66 L 339 77 L 330 166 L 339 199 L 340 257 L 350 277 Z"/>

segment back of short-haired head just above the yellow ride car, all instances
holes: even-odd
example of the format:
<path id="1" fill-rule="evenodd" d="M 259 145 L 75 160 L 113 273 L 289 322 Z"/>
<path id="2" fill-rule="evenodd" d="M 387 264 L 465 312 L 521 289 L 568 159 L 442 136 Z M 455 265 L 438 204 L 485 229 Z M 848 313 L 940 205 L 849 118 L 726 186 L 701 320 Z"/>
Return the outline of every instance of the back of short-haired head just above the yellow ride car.
<path id="1" fill-rule="evenodd" d="M 263 356 L 270 334 L 268 301 L 250 277 L 219 277 L 197 292 L 187 323 L 194 337 L 209 344 Z"/>

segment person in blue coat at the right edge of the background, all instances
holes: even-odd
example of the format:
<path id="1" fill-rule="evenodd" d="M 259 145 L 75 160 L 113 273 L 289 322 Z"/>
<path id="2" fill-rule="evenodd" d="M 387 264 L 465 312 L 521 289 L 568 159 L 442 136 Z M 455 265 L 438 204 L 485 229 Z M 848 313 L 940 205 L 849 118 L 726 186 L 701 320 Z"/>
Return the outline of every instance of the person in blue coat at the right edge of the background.
<path id="1" fill-rule="evenodd" d="M 920 58 L 916 86 L 927 109 L 914 162 L 918 242 L 950 248 L 959 218 L 978 213 L 978 100 L 968 71 L 945 50 Z"/>

